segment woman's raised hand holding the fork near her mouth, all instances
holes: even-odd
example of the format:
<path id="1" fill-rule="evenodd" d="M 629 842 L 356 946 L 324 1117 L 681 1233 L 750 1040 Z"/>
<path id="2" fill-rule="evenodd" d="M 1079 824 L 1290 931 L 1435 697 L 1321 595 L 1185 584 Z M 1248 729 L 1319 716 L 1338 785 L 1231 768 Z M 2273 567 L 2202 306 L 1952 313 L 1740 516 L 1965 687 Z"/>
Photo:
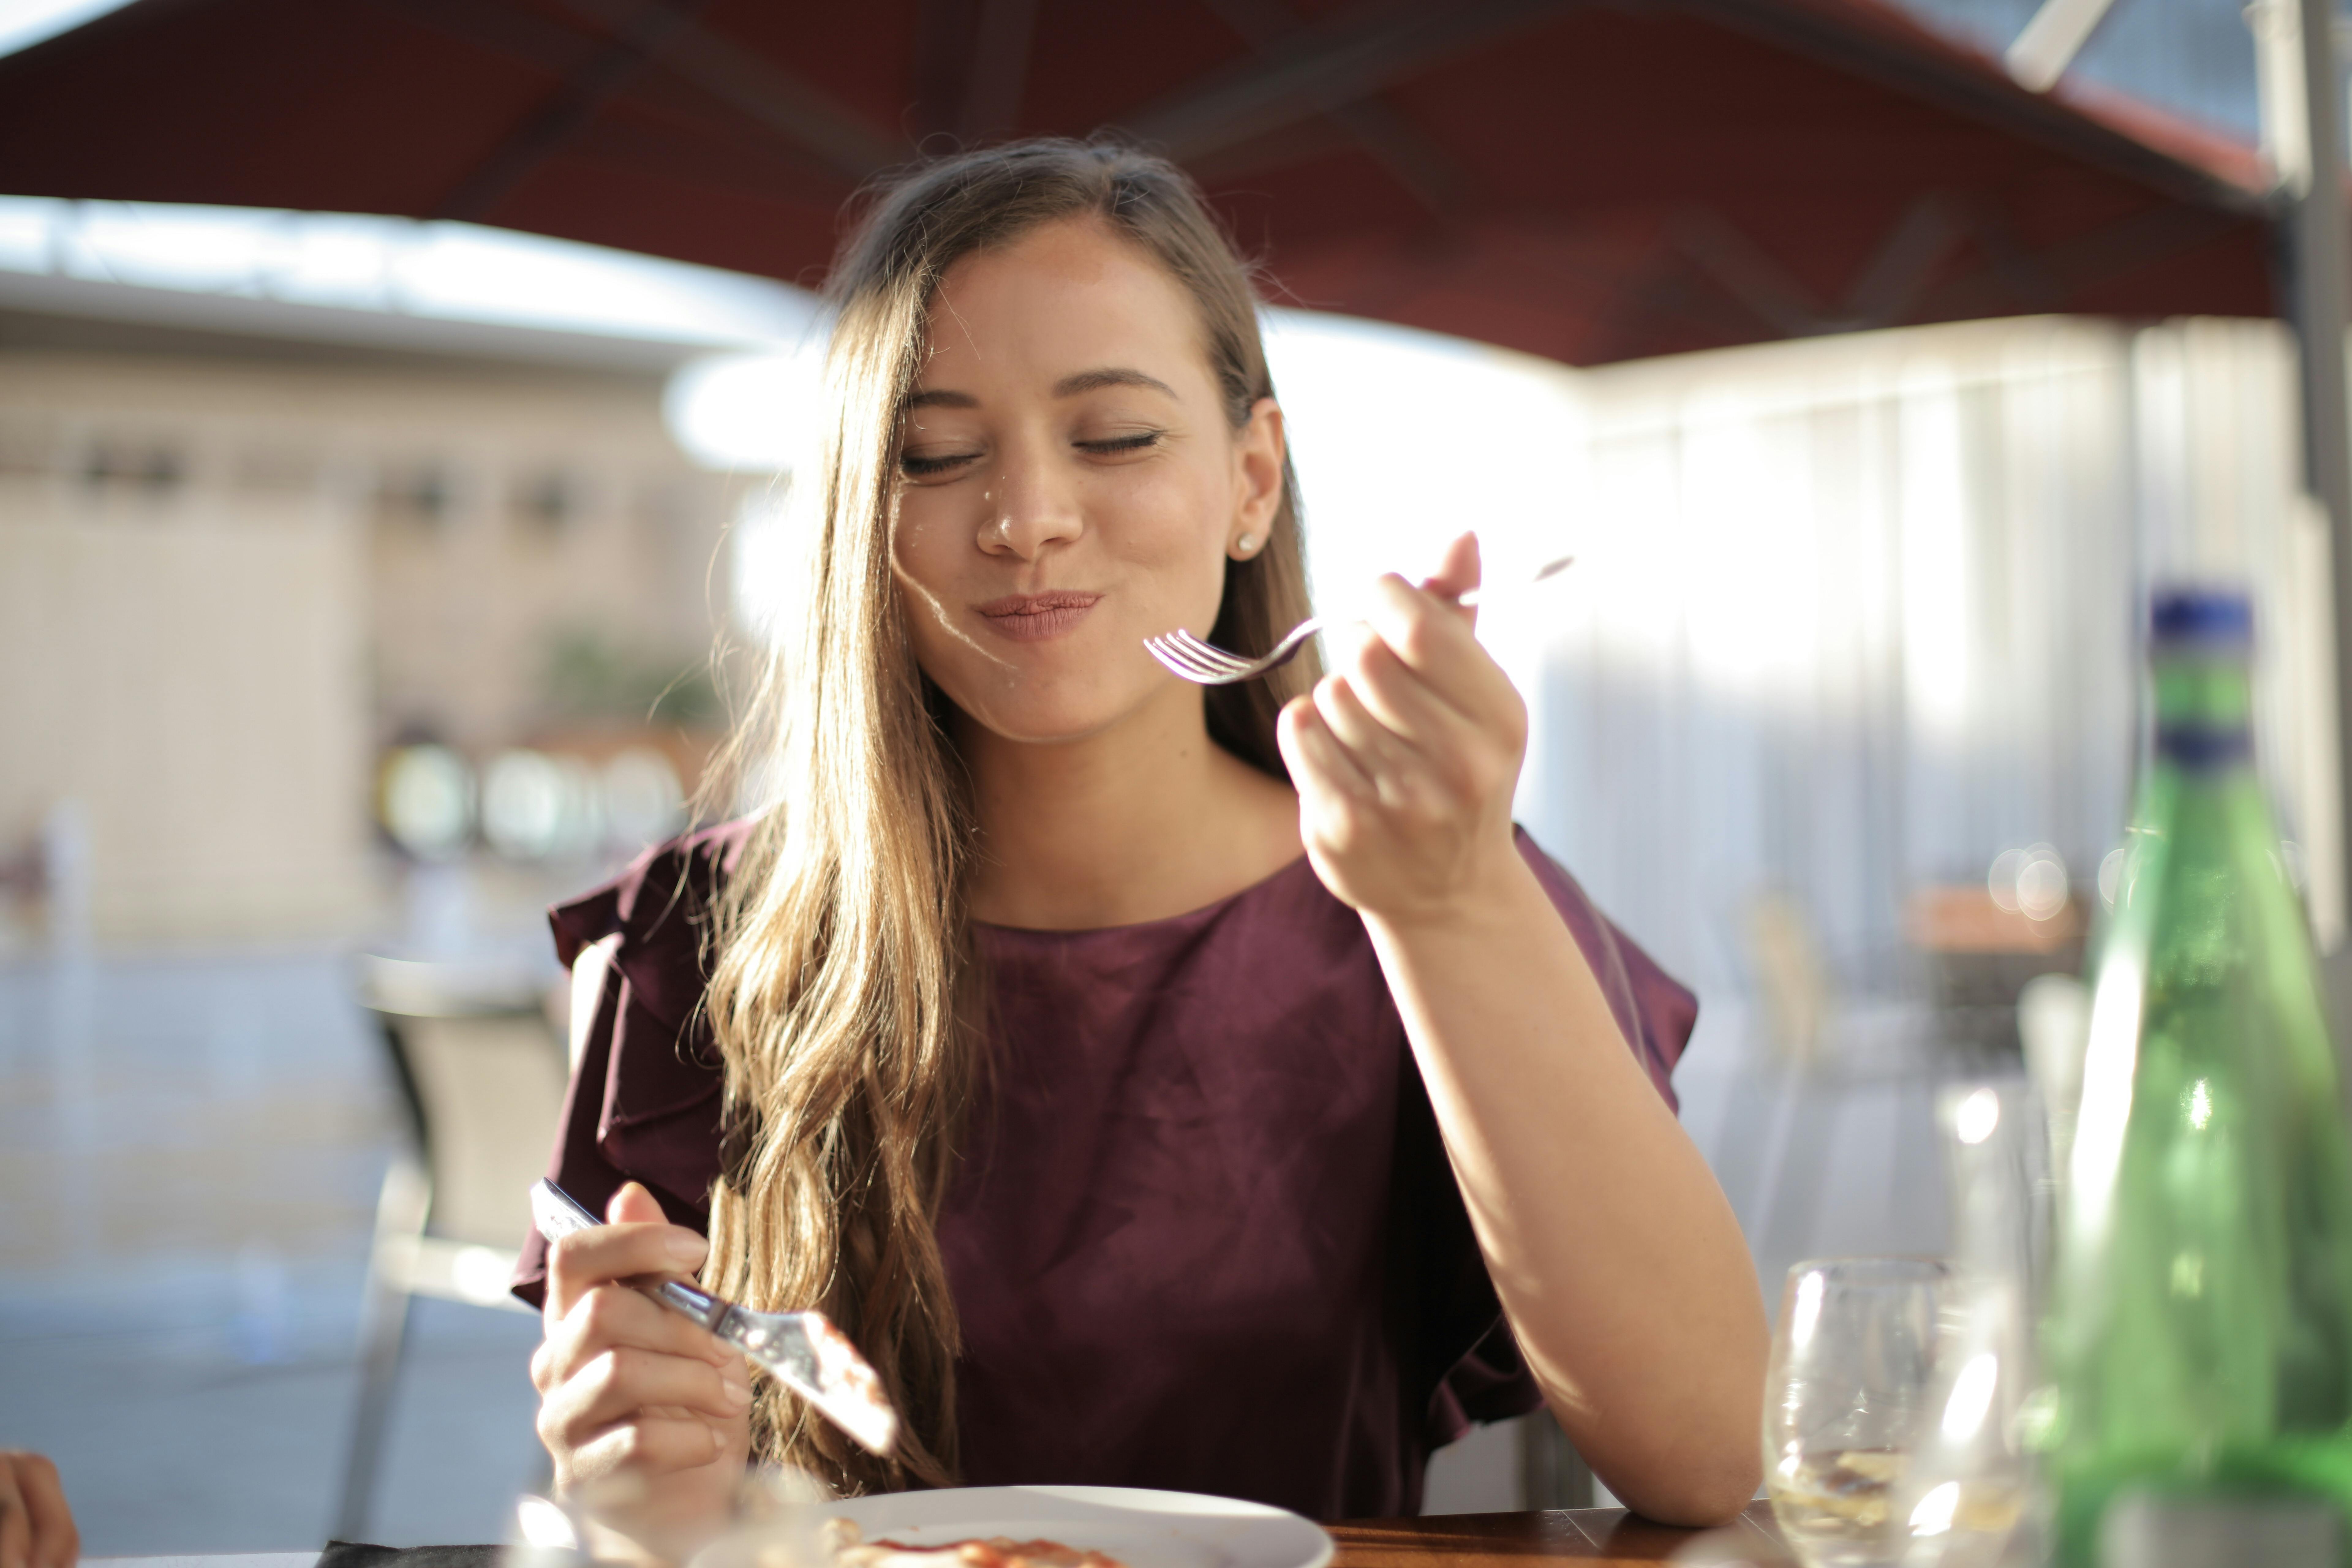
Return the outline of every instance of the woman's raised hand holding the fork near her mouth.
<path id="1" fill-rule="evenodd" d="M 1395 924 L 1449 919 L 1519 867 L 1510 797 L 1526 705 L 1454 604 L 1477 536 L 1421 588 L 1383 576 L 1352 651 L 1282 710 L 1298 830 L 1336 898 Z"/>

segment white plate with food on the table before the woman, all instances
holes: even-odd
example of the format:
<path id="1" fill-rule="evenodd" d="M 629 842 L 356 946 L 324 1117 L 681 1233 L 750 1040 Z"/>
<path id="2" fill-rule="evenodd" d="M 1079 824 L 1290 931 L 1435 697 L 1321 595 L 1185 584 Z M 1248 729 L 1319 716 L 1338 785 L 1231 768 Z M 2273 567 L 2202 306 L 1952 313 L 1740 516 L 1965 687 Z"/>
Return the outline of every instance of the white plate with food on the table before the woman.
<path id="1" fill-rule="evenodd" d="M 828 1502 L 866 1540 L 938 1547 L 1009 1535 L 1105 1552 L 1127 1568 L 1324 1568 L 1331 1537 L 1263 1502 L 1131 1486 L 962 1486 Z"/>

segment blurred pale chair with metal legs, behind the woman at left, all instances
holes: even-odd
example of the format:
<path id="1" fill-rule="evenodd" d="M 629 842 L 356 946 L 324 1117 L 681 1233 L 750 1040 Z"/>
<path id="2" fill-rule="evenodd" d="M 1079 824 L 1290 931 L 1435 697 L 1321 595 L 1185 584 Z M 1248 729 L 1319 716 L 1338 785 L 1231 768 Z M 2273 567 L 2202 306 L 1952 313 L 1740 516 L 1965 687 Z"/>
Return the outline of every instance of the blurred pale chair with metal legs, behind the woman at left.
<path id="1" fill-rule="evenodd" d="M 334 1535 L 362 1540 L 416 1295 L 529 1312 L 506 1293 L 532 1227 L 564 1098 L 564 1046 L 532 976 L 367 957 L 360 999 L 376 1016 L 409 1143 L 383 1173 L 360 1314 L 360 1408 Z"/>

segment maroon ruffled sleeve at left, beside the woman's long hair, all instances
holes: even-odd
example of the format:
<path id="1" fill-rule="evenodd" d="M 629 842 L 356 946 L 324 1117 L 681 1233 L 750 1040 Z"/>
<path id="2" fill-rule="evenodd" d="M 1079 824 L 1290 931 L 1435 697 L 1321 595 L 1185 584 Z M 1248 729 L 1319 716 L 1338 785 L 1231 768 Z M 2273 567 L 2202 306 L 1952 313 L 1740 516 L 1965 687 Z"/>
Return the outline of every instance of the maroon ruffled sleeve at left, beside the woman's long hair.
<path id="1" fill-rule="evenodd" d="M 710 1225 L 724 1079 L 703 1018 L 708 936 L 748 835 L 750 823 L 724 823 L 673 839 L 548 912 L 567 969 L 583 950 L 612 943 L 548 1157 L 548 1178 L 597 1213 L 635 1180 L 675 1225 Z M 534 1229 L 515 1267 L 515 1295 L 541 1305 L 546 1276 L 546 1241 Z"/>

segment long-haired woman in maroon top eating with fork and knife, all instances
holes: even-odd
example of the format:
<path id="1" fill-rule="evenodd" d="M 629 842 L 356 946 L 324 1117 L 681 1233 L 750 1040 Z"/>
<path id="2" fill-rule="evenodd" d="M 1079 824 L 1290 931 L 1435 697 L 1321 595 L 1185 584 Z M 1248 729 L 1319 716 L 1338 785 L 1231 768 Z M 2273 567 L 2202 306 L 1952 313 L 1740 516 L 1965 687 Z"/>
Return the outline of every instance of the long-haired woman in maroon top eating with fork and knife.
<path id="1" fill-rule="evenodd" d="M 1475 541 L 1329 677 L 1143 654 L 1308 614 L 1256 301 L 1160 160 L 922 167 L 833 301 L 734 752 L 776 806 L 555 914 L 555 1171 L 614 1220 L 517 1281 L 560 1483 L 626 1481 L 640 1537 L 746 1458 L 1402 1514 L 1465 1418 L 1545 1401 L 1632 1507 L 1736 1512 L 1764 1319 L 1665 1100 L 1689 994 L 1515 835 Z M 833 1314 L 901 1460 L 616 1284 L 654 1272 Z"/>

